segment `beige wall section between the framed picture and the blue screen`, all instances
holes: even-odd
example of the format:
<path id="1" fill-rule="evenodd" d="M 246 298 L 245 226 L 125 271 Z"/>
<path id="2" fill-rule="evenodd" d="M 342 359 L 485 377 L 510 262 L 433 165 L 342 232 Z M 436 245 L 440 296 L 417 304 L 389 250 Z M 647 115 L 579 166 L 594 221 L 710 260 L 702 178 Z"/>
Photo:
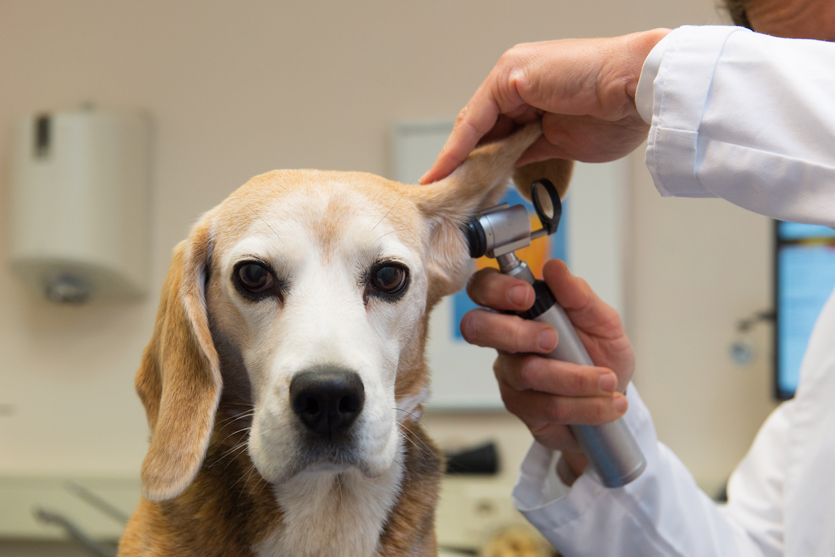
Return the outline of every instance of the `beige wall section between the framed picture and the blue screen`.
<path id="1" fill-rule="evenodd" d="M 772 306 L 772 221 L 721 200 L 660 198 L 645 174 L 632 192 L 635 382 L 661 440 L 716 484 L 774 408 L 771 326 L 752 331 L 751 365 L 729 357 L 736 323 Z"/>

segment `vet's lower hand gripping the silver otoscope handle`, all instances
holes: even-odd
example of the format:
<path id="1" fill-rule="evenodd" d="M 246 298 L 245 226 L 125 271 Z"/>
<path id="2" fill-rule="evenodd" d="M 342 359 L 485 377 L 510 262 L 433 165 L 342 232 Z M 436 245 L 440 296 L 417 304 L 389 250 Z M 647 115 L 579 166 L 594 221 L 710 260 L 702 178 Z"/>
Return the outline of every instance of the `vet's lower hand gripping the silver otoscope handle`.
<path id="1" fill-rule="evenodd" d="M 546 323 L 519 316 L 468 311 L 461 334 L 467 342 L 498 350 L 493 371 L 504 405 L 539 443 L 561 450 L 579 475 L 588 461 L 565 424 L 600 425 L 625 413 L 622 392 L 635 371 L 635 353 L 617 311 L 563 261 L 548 261 L 543 275 L 597 367 L 539 356 L 554 350 L 557 334 Z M 478 271 L 467 291 L 478 305 L 495 310 L 523 311 L 534 303 L 533 287 L 495 269 Z"/>

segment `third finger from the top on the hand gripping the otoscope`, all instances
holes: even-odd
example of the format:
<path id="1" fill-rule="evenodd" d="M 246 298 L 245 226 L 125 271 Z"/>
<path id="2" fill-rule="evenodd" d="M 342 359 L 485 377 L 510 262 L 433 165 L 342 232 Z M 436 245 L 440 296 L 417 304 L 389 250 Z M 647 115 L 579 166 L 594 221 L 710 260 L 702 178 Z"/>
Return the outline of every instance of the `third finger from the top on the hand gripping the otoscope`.
<path id="1" fill-rule="evenodd" d="M 534 354 L 499 353 L 493 364 L 499 381 L 517 391 L 539 391 L 563 397 L 605 397 L 618 377 L 607 367 L 580 366 Z"/>

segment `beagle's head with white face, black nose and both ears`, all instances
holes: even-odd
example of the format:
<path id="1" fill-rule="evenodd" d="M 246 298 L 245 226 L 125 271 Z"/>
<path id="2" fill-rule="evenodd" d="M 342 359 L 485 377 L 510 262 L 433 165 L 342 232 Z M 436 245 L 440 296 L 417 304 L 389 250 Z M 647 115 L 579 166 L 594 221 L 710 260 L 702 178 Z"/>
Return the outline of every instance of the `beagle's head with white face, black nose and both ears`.
<path id="1" fill-rule="evenodd" d="M 221 399 L 240 405 L 245 450 L 269 482 L 391 467 L 399 424 L 428 396 L 428 311 L 472 269 L 459 226 L 496 203 L 539 133 L 476 149 L 433 185 L 276 170 L 210 210 L 175 249 L 136 377 L 151 428 L 145 497 L 192 482 Z M 538 172 L 564 191 L 570 164 Z"/>

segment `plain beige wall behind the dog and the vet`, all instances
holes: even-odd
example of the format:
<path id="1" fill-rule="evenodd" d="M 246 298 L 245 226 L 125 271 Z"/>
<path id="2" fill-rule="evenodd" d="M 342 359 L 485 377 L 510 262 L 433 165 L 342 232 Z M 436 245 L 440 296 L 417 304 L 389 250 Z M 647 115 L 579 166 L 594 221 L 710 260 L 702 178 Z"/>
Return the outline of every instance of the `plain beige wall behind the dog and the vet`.
<path id="1" fill-rule="evenodd" d="M 4 0 L 0 6 L 0 473 L 133 474 L 144 455 L 134 370 L 170 251 L 202 211 L 281 167 L 389 170 L 389 129 L 453 116 L 506 48 L 716 23 L 711 0 L 276 2 Z M 8 273 L 12 119 L 83 102 L 154 120 L 152 284 L 141 302 L 49 305 Z M 767 223 L 718 201 L 661 200 L 635 159 L 627 277 L 640 383 L 661 438 L 697 477 L 726 474 L 769 407 L 765 358 L 726 357 L 767 305 Z M 497 422 L 498 421 L 498 422 Z M 430 416 L 440 438 L 491 432 Z M 500 427 L 495 423 L 500 423 Z"/>

